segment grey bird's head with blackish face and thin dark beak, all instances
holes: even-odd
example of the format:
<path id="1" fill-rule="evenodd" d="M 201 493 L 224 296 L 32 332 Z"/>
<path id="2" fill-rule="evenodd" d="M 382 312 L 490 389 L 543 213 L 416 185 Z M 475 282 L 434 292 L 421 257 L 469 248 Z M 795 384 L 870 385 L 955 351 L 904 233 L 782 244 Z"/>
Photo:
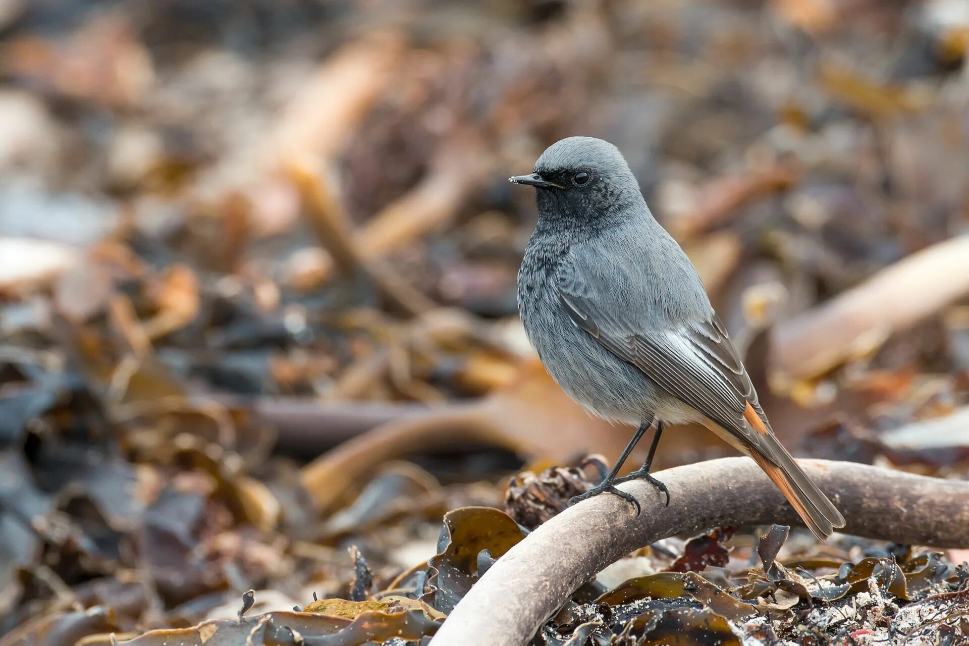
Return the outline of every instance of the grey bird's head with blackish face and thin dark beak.
<path id="1" fill-rule="evenodd" d="M 642 199 L 639 184 L 616 147 L 595 138 L 554 143 L 539 158 L 534 173 L 510 181 L 534 186 L 540 219 L 563 224 L 602 223 L 622 205 Z"/>

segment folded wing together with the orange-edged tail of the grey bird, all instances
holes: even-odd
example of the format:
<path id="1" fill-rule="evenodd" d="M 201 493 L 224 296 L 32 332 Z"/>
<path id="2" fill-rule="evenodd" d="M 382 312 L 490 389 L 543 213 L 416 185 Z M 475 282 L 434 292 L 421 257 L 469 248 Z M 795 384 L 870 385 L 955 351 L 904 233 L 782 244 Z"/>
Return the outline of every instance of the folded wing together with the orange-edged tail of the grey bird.
<path id="1" fill-rule="evenodd" d="M 800 469 L 774 435 L 757 393 L 723 323 L 706 316 L 685 323 L 658 319 L 657 303 L 644 303 L 641 285 L 628 269 L 600 274 L 564 262 L 558 272 L 563 308 L 580 328 L 610 353 L 639 368 L 663 390 L 716 422 L 725 440 L 749 454 L 797 509 L 818 538 L 827 538 L 844 518 Z M 682 317 L 680 317 L 682 319 Z"/>

